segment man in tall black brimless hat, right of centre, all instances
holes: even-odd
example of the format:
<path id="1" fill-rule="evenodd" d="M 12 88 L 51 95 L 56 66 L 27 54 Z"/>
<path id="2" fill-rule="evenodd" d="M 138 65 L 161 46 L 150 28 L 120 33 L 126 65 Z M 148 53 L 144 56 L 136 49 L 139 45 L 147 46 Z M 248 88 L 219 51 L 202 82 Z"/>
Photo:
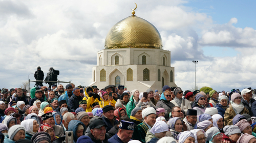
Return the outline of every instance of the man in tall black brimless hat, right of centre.
<path id="1" fill-rule="evenodd" d="M 197 110 L 187 109 L 187 115 L 183 121 L 185 122 L 188 131 L 193 130 L 197 123 Z"/>

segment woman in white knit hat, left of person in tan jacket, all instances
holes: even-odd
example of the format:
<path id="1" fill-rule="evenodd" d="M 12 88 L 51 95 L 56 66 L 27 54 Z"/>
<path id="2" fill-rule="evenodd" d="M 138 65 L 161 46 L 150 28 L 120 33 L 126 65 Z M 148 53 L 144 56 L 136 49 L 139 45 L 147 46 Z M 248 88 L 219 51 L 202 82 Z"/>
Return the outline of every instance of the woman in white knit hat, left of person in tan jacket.
<path id="1" fill-rule="evenodd" d="M 227 96 L 220 96 L 219 103 L 217 103 L 216 108 L 218 109 L 218 114 L 224 119 L 225 111 L 228 108 L 228 98 Z"/>

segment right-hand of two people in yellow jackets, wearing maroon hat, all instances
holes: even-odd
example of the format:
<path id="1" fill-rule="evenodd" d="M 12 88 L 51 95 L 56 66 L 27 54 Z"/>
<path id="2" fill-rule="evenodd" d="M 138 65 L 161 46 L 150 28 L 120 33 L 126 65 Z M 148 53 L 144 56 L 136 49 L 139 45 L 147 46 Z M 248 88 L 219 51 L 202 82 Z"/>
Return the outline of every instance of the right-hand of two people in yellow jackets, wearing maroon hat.
<path id="1" fill-rule="evenodd" d="M 101 91 L 100 98 L 102 99 L 101 101 L 99 101 L 100 108 L 103 108 L 106 105 L 111 105 L 115 107 L 116 101 L 113 100 L 112 92 L 110 92 L 110 95 L 109 95 L 106 91 Z"/>

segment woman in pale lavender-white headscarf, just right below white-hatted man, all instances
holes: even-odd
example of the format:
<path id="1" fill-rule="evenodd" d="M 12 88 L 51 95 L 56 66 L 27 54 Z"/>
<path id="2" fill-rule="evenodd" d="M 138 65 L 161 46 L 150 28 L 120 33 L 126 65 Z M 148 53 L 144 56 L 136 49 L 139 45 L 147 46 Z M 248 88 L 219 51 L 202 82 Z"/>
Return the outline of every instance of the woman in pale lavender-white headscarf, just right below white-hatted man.
<path id="1" fill-rule="evenodd" d="M 154 126 L 151 129 L 149 129 L 146 133 L 146 142 L 157 142 L 160 138 L 166 135 L 166 132 L 168 130 L 168 126 L 164 121 L 156 121 Z"/>

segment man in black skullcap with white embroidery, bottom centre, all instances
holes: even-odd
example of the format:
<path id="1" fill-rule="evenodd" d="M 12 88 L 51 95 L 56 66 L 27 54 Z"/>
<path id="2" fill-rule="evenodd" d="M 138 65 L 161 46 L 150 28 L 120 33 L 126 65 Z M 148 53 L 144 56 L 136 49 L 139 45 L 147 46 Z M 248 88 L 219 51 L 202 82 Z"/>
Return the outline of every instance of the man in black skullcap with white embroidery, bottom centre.
<path id="1" fill-rule="evenodd" d="M 135 124 L 133 122 L 122 120 L 118 132 L 108 141 L 110 143 L 127 143 L 132 140 Z"/>

